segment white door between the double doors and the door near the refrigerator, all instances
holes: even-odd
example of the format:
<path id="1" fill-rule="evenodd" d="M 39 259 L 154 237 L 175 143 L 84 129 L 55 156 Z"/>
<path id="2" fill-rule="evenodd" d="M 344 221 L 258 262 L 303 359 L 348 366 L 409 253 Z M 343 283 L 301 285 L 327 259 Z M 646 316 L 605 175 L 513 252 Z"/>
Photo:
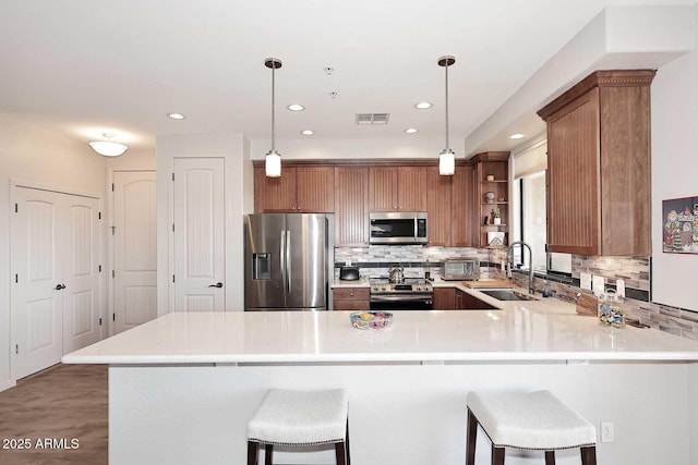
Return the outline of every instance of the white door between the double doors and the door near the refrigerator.
<path id="1" fill-rule="evenodd" d="M 113 173 L 113 332 L 157 316 L 156 174 Z"/>

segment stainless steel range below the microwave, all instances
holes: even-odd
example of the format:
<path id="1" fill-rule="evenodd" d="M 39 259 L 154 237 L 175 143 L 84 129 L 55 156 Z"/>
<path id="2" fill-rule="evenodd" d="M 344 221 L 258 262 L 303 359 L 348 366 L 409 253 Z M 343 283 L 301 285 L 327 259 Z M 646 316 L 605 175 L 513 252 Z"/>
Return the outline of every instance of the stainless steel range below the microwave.
<path id="1" fill-rule="evenodd" d="M 400 282 L 370 279 L 372 310 L 431 310 L 434 301 L 432 283 L 420 278 Z"/>

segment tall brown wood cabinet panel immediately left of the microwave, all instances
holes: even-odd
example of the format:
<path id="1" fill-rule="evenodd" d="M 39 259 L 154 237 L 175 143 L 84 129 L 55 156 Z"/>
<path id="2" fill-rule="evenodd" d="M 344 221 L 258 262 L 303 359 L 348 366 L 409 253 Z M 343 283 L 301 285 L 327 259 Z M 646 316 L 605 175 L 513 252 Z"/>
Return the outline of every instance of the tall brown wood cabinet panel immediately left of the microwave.
<path id="1" fill-rule="evenodd" d="M 335 168 L 335 245 L 369 245 L 369 169 Z"/>

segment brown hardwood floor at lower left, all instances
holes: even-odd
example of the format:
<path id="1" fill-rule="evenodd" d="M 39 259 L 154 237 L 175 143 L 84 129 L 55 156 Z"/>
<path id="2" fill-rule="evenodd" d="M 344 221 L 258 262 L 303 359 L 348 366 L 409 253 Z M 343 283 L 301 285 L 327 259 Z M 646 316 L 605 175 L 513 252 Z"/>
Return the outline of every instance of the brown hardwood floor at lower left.
<path id="1" fill-rule="evenodd" d="M 107 420 L 107 366 L 57 365 L 27 377 L 0 392 L 0 464 L 106 465 Z"/>

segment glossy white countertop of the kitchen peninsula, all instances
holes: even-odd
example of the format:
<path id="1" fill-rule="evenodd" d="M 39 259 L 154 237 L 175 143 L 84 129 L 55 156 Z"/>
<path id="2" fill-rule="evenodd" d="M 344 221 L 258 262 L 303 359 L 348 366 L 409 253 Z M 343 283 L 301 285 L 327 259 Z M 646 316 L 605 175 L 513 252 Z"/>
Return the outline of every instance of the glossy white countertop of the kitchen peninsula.
<path id="1" fill-rule="evenodd" d="M 460 287 L 460 286 L 459 286 Z M 74 364 L 698 360 L 698 342 L 615 329 L 547 298 L 501 310 L 395 311 L 393 327 L 351 327 L 349 311 L 173 313 L 63 356 Z"/>

